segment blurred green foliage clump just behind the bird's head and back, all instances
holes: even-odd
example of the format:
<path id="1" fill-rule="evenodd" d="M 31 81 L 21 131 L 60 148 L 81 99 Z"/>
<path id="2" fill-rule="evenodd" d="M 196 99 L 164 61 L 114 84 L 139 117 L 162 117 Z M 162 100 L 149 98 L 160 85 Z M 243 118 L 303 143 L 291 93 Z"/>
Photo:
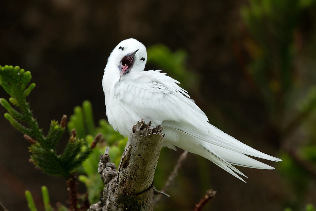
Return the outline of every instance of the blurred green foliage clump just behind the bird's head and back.
<path id="1" fill-rule="evenodd" d="M 147 48 L 147 63 L 161 68 L 172 78 L 177 78 L 181 82 L 181 87 L 188 89 L 196 87 L 198 77 L 187 68 L 187 53 L 185 50 L 176 50 L 172 52 L 167 46 L 157 44 Z"/>

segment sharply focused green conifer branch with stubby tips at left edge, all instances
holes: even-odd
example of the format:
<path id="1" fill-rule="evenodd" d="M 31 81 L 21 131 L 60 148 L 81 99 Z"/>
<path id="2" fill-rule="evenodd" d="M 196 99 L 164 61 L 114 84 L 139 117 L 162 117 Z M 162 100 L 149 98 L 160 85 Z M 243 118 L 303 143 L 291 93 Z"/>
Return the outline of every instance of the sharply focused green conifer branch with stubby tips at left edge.
<path id="1" fill-rule="evenodd" d="M 29 71 L 18 66 L 0 66 L 0 85 L 10 95 L 11 104 L 19 109 L 17 111 L 7 100 L 1 98 L 1 105 L 8 111 L 4 117 L 31 142 L 29 151 L 32 153 L 33 164 L 46 174 L 67 178 L 92 153 L 92 148 L 86 147 L 82 150 L 86 142 L 72 134 L 64 152 L 57 155 L 56 146 L 65 132 L 66 120 L 59 124 L 53 120 L 47 136 L 44 136 L 33 117 L 29 103 L 26 102 L 26 97 L 35 87 L 34 83 L 27 87 L 31 78 Z"/>

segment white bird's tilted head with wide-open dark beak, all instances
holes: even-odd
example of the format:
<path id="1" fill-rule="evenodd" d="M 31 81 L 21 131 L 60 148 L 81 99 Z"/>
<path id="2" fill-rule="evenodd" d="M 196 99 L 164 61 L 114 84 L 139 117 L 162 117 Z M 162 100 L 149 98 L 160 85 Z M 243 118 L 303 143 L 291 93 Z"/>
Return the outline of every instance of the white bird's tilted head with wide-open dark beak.
<path id="1" fill-rule="evenodd" d="M 146 47 L 136 39 L 123 40 L 112 51 L 108 63 L 118 67 L 121 80 L 122 76 L 128 72 L 143 71 L 147 61 Z"/>

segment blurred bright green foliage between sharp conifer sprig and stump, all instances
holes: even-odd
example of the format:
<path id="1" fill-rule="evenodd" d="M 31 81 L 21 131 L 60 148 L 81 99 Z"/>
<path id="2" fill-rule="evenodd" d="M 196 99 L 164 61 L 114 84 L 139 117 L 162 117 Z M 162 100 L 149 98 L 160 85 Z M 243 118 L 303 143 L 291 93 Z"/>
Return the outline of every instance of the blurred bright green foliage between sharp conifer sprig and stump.
<path id="1" fill-rule="evenodd" d="M 93 204 L 100 201 L 104 188 L 104 183 L 98 173 L 100 154 L 104 154 L 106 146 L 110 146 L 111 150 L 109 155 L 111 161 L 116 164 L 118 168 L 128 138 L 115 132 L 113 127 L 104 119 L 101 119 L 99 126 L 95 127 L 92 105 L 89 101 L 84 101 L 82 107 L 75 107 L 74 114 L 70 116 L 70 121 L 68 122 L 69 131 L 73 128 L 78 132 L 77 137 L 85 140 L 88 145 L 91 145 L 95 135 L 98 133 L 102 133 L 105 139 L 105 141 L 103 143 L 101 142 L 99 147 L 92 152 L 91 156 L 82 163 L 82 167 L 78 169 L 80 173 L 85 174 L 80 175 L 78 179 L 86 185 L 89 202 Z M 87 146 L 82 147 L 82 150 L 84 151 L 86 147 Z"/>

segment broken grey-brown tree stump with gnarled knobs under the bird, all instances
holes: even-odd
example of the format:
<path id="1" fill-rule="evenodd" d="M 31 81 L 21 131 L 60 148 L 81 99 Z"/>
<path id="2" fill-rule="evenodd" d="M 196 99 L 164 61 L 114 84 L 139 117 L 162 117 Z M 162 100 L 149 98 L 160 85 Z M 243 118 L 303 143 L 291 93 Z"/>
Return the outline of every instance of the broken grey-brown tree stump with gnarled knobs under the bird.
<path id="1" fill-rule="evenodd" d="M 154 208 L 153 179 L 162 147 L 162 127 L 143 121 L 133 126 L 119 172 L 110 162 L 108 149 L 100 155 L 99 173 L 105 183 L 102 202 L 89 211 L 142 210 Z"/>

